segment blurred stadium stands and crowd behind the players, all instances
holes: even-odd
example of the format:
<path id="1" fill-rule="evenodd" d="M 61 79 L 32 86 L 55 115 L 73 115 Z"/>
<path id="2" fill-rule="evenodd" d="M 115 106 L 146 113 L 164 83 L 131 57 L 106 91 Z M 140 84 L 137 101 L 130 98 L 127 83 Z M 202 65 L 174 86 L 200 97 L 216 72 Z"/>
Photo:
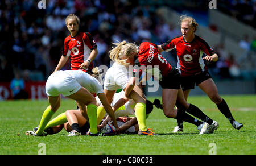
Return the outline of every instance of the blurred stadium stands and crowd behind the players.
<path id="1" fill-rule="evenodd" d="M 39 9 L 46 2 L 46 9 Z M 20 74 L 31 99 L 46 98 L 44 84 L 55 69 L 69 35 L 65 17 L 75 13 L 80 30 L 92 34 L 98 46 L 94 65 L 108 65 L 115 40 L 162 44 L 180 34 L 179 16 L 199 23 L 197 35 L 205 39 L 220 59 L 208 64 L 220 94 L 256 93 L 256 1 L 1 1 L 0 100 L 13 99 L 10 82 Z M 175 51 L 163 53 L 176 66 Z M 63 70 L 70 68 L 67 63 Z M 160 89 L 159 89 L 160 90 Z M 160 92 L 160 91 L 159 91 Z M 160 93 L 148 93 L 160 95 Z M 191 94 L 203 94 L 195 89 Z M 26 96 L 26 95 L 25 95 Z"/>

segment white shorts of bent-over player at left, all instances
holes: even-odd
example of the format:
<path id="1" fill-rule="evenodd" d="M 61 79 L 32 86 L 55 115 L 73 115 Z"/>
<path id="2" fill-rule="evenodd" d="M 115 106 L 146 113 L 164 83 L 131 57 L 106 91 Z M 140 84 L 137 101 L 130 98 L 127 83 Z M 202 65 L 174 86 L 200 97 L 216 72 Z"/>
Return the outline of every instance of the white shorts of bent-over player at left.
<path id="1" fill-rule="evenodd" d="M 46 82 L 48 96 L 69 96 L 81 89 L 81 85 L 67 72 L 57 71 L 49 76 Z"/>

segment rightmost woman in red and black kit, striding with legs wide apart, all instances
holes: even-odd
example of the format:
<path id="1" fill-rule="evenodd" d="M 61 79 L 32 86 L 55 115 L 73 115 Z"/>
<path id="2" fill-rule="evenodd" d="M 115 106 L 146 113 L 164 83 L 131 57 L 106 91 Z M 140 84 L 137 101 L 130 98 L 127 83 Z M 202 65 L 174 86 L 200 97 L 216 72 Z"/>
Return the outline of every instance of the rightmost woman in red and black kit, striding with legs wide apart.
<path id="1" fill-rule="evenodd" d="M 176 49 L 177 68 L 181 75 L 181 86 L 185 99 L 187 100 L 190 90 L 194 89 L 196 84 L 216 103 L 218 109 L 229 119 L 232 126 L 240 129 L 243 125 L 234 120 L 227 103 L 219 96 L 217 87 L 204 64 L 204 60 L 217 61 L 218 55 L 205 40 L 195 35 L 198 26 L 195 19 L 181 16 L 180 20 L 182 35 L 158 45 L 158 49 L 160 52 Z M 203 53 L 205 53 L 205 57 L 203 57 Z M 182 123 L 178 122 L 179 128 L 183 128 Z"/>

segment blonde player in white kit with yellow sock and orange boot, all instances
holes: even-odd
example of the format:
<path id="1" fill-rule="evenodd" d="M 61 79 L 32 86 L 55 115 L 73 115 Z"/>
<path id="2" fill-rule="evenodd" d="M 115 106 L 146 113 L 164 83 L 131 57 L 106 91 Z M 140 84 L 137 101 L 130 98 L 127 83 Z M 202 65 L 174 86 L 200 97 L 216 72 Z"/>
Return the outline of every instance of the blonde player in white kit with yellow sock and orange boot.
<path id="1" fill-rule="evenodd" d="M 133 76 L 133 70 L 129 70 L 130 62 L 133 60 L 127 59 L 125 55 L 134 52 L 130 50 L 129 44 L 115 44 L 117 47 L 109 52 L 109 57 L 114 61 L 112 67 L 108 69 L 105 75 L 104 81 L 104 93 L 108 98 L 108 102 L 112 102 L 113 96 L 117 89 L 125 91 L 127 83 L 130 81 L 130 77 Z M 157 135 L 151 130 L 148 130 L 146 126 L 146 98 L 140 86 L 135 85 L 134 89 L 130 93 L 130 98 L 134 100 L 135 115 L 137 117 L 139 125 L 139 135 Z M 104 111 L 98 109 L 98 114 Z M 104 121 L 106 123 L 107 121 Z"/>

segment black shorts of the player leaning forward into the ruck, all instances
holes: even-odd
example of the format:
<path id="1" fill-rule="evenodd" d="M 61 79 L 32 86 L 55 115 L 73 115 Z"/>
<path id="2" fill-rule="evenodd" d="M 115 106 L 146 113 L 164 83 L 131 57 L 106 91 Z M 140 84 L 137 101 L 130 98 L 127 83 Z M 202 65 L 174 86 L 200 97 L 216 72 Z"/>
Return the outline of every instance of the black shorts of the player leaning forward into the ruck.
<path id="1" fill-rule="evenodd" d="M 159 82 L 163 89 L 180 89 L 180 83 L 180 73 L 176 68 L 172 68 L 167 77 L 163 77 L 162 81 Z"/>

